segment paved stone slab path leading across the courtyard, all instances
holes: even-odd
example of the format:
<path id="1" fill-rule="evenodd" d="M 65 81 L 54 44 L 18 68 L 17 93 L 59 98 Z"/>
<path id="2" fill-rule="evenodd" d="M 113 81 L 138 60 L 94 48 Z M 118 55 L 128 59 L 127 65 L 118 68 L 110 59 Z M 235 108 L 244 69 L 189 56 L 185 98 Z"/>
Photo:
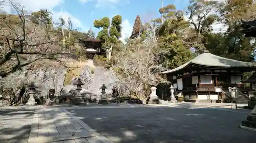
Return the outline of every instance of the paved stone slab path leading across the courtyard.
<path id="1" fill-rule="evenodd" d="M 66 109 L 39 109 L 35 111 L 29 143 L 110 143 Z"/>

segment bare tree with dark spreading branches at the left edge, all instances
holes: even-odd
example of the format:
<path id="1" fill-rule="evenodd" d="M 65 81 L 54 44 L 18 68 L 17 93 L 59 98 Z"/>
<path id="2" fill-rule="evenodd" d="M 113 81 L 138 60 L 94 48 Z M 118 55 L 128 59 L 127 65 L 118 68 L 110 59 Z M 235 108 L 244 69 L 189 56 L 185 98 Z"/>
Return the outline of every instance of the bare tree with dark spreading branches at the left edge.
<path id="1" fill-rule="evenodd" d="M 58 34 L 52 28 L 33 23 L 24 7 L 12 1 L 9 4 L 17 14 L 0 17 L 0 38 L 4 43 L 0 51 L 0 76 L 6 77 L 45 59 L 65 66 L 60 59 L 70 52 L 59 46 L 62 39 Z"/>

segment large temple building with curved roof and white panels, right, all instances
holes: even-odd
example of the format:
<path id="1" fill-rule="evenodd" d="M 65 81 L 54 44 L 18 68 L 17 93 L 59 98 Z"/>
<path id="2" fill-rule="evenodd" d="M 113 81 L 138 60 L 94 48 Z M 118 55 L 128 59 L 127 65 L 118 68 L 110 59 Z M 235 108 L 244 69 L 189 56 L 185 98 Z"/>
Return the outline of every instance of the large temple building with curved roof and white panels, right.
<path id="1" fill-rule="evenodd" d="M 183 94 L 184 101 L 212 102 L 228 98 L 228 87 L 237 87 L 241 94 L 248 94 L 250 88 L 245 87 L 241 80 L 244 72 L 255 69 L 255 63 L 226 59 L 205 50 L 187 63 L 162 73 L 167 75 L 176 93 Z M 216 92 L 216 87 L 221 87 L 220 93 Z"/>

